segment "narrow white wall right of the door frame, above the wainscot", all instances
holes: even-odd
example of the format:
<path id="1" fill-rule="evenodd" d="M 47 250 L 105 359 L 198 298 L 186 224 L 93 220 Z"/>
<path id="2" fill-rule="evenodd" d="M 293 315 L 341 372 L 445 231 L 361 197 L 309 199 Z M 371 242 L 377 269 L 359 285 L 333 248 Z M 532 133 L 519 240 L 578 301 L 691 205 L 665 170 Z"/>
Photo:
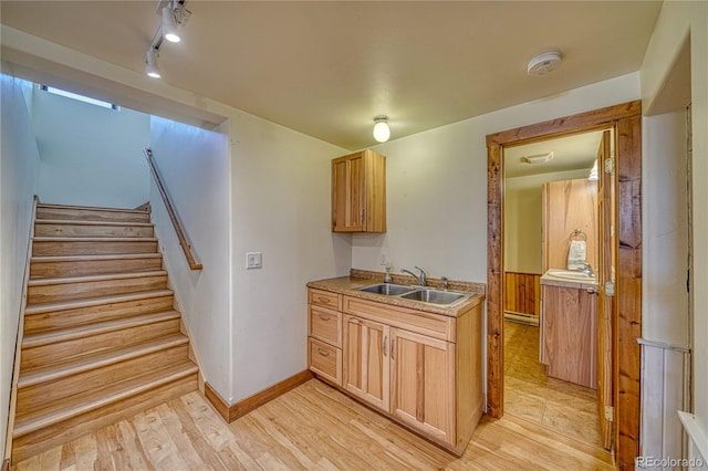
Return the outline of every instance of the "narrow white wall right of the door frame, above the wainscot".
<path id="1" fill-rule="evenodd" d="M 642 337 L 688 347 L 686 113 L 645 117 L 642 136 Z"/>

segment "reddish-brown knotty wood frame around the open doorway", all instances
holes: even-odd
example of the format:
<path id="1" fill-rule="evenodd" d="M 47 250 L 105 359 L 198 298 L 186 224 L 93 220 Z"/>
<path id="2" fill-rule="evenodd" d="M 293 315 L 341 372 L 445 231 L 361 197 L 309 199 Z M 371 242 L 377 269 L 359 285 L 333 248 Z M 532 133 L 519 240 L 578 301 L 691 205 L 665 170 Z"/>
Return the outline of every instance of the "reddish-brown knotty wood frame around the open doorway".
<path id="1" fill-rule="evenodd" d="M 634 469 L 639 453 L 642 336 L 642 102 L 634 101 L 487 136 L 487 414 L 503 415 L 503 148 L 603 128 L 615 129 L 616 318 L 613 320 L 615 456 Z"/>

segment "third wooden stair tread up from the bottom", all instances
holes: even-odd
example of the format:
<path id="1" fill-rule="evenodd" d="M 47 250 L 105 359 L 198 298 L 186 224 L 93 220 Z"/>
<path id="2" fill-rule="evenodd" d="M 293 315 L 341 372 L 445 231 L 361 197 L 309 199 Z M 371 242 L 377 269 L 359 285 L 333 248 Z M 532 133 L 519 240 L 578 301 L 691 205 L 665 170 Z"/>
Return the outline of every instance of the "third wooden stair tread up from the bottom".
<path id="1" fill-rule="evenodd" d="M 115 332 L 126 327 L 137 327 L 140 325 L 155 324 L 162 321 L 179 318 L 177 311 L 165 311 L 159 313 L 142 314 L 118 321 L 108 321 L 97 324 L 80 325 L 73 328 L 62 328 L 59 331 L 42 332 L 27 335 L 22 339 L 22 349 L 39 347 L 41 345 L 66 342 L 75 338 L 90 337 L 106 332 Z"/>

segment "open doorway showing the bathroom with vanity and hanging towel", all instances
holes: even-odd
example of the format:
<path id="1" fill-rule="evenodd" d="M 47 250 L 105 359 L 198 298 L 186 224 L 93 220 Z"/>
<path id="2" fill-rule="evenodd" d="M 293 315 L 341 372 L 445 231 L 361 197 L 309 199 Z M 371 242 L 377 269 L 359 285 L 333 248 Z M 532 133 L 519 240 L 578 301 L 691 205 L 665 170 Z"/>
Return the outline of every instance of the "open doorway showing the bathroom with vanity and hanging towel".
<path id="1" fill-rule="evenodd" d="M 506 148 L 503 161 L 504 410 L 596 448 L 610 448 L 610 435 L 605 440 L 603 431 L 612 428 L 604 422 L 604 397 L 598 395 L 611 379 L 597 375 L 597 365 L 608 357 L 607 347 L 600 352 L 597 345 L 596 285 L 604 247 L 598 190 L 601 177 L 612 176 L 598 171 L 604 143 L 604 129 L 543 139 Z M 582 252 L 579 260 L 591 273 L 573 270 L 579 261 L 569 259 L 571 247 Z M 566 270 L 579 279 L 543 276 Z M 542 305 L 542 292 L 568 290 L 580 296 L 587 289 L 593 294 L 584 297 L 592 310 L 581 315 L 562 307 L 542 316 L 542 306 L 549 311 L 550 304 Z M 561 325 L 571 332 L 554 336 Z M 566 338 L 583 342 L 563 347 L 556 342 Z"/>

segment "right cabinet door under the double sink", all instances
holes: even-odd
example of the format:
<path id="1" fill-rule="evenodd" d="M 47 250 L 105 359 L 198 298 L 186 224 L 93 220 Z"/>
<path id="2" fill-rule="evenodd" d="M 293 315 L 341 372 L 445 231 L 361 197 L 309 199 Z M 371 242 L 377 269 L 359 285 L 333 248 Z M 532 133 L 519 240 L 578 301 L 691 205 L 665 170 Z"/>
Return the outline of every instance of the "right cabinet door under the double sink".
<path id="1" fill-rule="evenodd" d="M 392 414 L 455 444 L 455 344 L 392 328 Z"/>

